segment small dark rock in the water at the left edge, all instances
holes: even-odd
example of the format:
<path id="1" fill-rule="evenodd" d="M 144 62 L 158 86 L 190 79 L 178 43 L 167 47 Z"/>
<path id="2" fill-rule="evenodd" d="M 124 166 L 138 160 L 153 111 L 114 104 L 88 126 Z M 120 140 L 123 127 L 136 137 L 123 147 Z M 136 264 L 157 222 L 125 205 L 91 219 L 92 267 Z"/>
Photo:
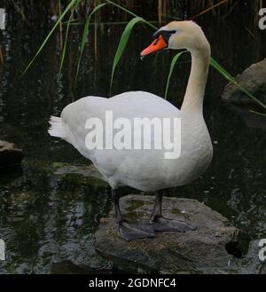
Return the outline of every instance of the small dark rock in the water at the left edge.
<path id="1" fill-rule="evenodd" d="M 14 144 L 0 140 L 0 168 L 20 164 L 23 152 Z"/>

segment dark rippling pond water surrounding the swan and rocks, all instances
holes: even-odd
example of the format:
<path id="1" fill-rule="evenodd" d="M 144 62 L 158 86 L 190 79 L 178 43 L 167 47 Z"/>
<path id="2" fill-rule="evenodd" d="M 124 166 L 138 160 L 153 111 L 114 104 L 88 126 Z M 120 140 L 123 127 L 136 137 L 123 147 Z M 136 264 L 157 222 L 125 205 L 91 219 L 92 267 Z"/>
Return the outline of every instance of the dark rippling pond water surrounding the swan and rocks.
<path id="1" fill-rule="evenodd" d="M 213 57 L 233 75 L 266 57 L 265 36 L 253 27 L 253 21 L 248 11 L 233 12 L 221 20 L 200 19 Z M 80 170 L 89 162 L 66 142 L 49 137 L 47 129 L 49 116 L 59 114 L 75 99 L 108 96 L 113 56 L 124 25 L 91 26 L 75 91 L 79 28 L 72 31 L 61 78 L 57 34 L 20 78 L 50 28 L 47 13 L 31 25 L 13 12 L 7 29 L 1 31 L 0 138 L 22 147 L 25 159 L 22 169 L 0 174 L 0 238 L 7 249 L 0 273 L 117 272 L 112 261 L 98 256 L 93 248 L 99 219 L 112 208 L 110 190 L 96 178 L 62 175 L 69 167 Z M 115 75 L 113 94 L 142 90 L 163 96 L 174 52 L 142 62 L 139 52 L 152 33 L 139 27 L 131 36 Z M 168 99 L 176 106 L 182 102 L 189 61 L 182 59 L 173 75 Z M 224 104 L 220 95 L 225 83 L 210 70 L 205 117 L 215 150 L 211 167 L 192 185 L 172 189 L 168 195 L 204 201 L 251 239 L 261 239 L 266 237 L 266 122 Z"/>

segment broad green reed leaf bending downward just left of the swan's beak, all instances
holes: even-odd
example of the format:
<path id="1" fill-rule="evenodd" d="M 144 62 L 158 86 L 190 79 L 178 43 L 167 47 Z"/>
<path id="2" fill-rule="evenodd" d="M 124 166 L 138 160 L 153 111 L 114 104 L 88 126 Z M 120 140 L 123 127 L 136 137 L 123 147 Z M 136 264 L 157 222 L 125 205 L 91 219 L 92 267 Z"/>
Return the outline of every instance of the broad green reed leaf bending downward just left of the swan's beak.
<path id="1" fill-rule="evenodd" d="M 135 17 L 134 19 L 130 20 L 127 27 L 125 28 L 125 30 L 123 31 L 122 35 L 121 35 L 121 39 L 120 39 L 120 43 L 118 45 L 118 48 L 116 50 L 114 59 L 113 59 L 113 69 L 112 69 L 112 76 L 111 76 L 111 83 L 110 83 L 110 94 L 112 91 L 112 85 L 113 85 L 113 75 L 114 75 L 114 71 L 115 68 L 117 67 L 120 59 L 121 59 L 121 55 L 123 53 L 123 51 L 126 48 L 126 45 L 129 41 L 129 36 L 132 32 L 132 29 L 134 28 L 134 26 L 138 23 L 138 22 L 145 22 L 145 20 L 141 17 Z"/>

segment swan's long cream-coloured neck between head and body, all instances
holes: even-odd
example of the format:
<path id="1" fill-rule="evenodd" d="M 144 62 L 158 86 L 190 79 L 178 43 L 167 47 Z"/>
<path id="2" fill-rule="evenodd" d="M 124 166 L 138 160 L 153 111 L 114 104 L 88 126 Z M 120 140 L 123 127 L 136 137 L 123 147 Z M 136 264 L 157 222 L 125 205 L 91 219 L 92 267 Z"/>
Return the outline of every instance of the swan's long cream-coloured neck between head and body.
<path id="1" fill-rule="evenodd" d="M 183 114 L 202 114 L 204 92 L 207 83 L 207 73 L 210 59 L 209 44 L 200 50 L 191 50 L 192 69 L 181 107 Z"/>

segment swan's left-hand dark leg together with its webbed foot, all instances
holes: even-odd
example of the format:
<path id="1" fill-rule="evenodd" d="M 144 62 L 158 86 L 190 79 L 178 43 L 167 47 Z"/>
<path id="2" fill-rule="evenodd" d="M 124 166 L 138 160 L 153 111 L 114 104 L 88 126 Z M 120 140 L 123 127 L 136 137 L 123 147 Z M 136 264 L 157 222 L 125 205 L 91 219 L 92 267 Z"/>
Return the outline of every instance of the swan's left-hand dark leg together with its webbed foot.
<path id="1" fill-rule="evenodd" d="M 115 218 L 118 225 L 119 236 L 126 241 L 135 241 L 138 239 L 144 239 L 154 237 L 153 225 L 150 222 L 128 222 L 121 215 L 121 209 L 119 205 L 119 196 L 115 190 L 112 190 L 113 205 Z"/>

